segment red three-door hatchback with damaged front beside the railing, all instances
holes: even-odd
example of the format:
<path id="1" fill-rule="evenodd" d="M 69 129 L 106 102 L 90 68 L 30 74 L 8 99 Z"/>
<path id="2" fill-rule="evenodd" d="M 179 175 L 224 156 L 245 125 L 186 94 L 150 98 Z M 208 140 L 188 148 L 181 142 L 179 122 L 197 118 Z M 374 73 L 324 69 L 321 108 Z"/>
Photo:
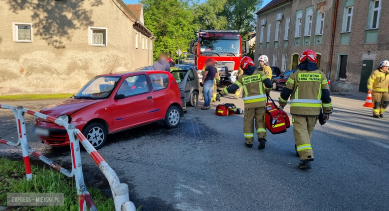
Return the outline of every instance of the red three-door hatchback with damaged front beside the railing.
<path id="1" fill-rule="evenodd" d="M 96 76 L 70 99 L 39 112 L 75 124 L 96 149 L 110 133 L 155 121 L 176 127 L 184 115 L 177 82 L 164 71 Z M 64 127 L 55 123 L 37 118 L 34 132 L 48 145 L 70 144 Z"/>

